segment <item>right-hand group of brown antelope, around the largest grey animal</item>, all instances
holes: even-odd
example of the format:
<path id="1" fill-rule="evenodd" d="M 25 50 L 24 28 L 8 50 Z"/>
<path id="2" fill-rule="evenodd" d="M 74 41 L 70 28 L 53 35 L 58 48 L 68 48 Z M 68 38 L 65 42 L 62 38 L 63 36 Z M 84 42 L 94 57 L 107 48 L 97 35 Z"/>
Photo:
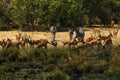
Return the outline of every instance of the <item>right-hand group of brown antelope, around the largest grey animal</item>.
<path id="1" fill-rule="evenodd" d="M 101 28 L 92 29 L 92 35 L 88 37 L 84 42 L 78 41 L 76 39 L 73 40 L 64 40 L 63 44 L 71 47 L 74 45 L 76 48 L 84 48 L 84 47 L 102 47 L 105 48 L 107 46 L 112 45 L 112 37 L 117 38 L 118 29 L 114 29 L 112 31 L 108 30 L 107 35 L 101 35 Z M 119 45 L 120 46 L 120 45 Z"/>

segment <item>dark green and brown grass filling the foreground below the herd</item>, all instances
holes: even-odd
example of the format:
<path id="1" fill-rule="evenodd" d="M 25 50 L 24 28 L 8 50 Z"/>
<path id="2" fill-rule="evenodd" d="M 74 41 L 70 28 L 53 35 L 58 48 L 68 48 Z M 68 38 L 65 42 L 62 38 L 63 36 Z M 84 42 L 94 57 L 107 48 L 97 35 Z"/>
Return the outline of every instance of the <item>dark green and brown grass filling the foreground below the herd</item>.
<path id="1" fill-rule="evenodd" d="M 0 50 L 0 80 L 119 80 L 120 47 Z"/>

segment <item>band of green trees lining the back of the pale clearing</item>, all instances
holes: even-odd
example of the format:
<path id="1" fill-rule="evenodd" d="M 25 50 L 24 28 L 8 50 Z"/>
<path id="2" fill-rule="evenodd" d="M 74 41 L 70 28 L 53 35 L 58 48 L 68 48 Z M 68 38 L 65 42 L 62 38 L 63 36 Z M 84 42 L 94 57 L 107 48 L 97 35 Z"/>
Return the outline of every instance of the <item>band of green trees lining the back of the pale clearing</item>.
<path id="1" fill-rule="evenodd" d="M 119 0 L 0 0 L 0 29 L 46 30 L 120 22 Z"/>

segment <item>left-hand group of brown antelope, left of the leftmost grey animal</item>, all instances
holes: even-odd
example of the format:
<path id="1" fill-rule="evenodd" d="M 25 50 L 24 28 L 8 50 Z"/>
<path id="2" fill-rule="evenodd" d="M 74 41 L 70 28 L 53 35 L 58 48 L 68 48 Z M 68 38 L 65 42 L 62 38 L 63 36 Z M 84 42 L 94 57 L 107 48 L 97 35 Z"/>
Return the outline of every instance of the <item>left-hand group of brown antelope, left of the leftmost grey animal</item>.
<path id="1" fill-rule="evenodd" d="M 14 47 L 19 49 L 20 47 L 25 47 L 25 46 L 31 46 L 34 47 L 36 45 L 37 48 L 44 47 L 47 48 L 47 44 L 50 44 L 52 46 L 57 46 L 57 42 L 49 42 L 47 39 L 39 39 L 39 40 L 34 40 L 32 37 L 29 35 L 21 35 L 21 33 L 18 33 L 18 35 L 15 36 L 15 40 L 12 39 L 2 39 L 0 41 L 0 45 L 2 46 L 3 49 L 8 49 L 10 47 Z"/>

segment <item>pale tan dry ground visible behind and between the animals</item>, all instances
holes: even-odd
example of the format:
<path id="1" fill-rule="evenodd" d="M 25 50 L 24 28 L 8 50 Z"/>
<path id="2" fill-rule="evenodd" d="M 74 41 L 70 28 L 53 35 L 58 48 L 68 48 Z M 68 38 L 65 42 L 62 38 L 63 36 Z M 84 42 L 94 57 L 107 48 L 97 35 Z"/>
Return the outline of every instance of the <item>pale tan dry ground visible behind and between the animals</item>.
<path id="1" fill-rule="evenodd" d="M 112 29 L 110 30 L 112 32 Z M 49 41 L 51 39 L 51 33 L 50 32 L 22 32 L 22 35 L 30 35 L 32 37 L 32 39 L 38 40 L 41 38 L 47 38 Z M 108 35 L 108 30 L 106 29 L 102 29 L 101 30 L 101 34 L 102 35 Z M 15 40 L 15 35 L 18 35 L 18 31 L 0 31 L 0 40 L 1 39 L 13 39 Z M 85 40 L 86 38 L 90 37 L 92 35 L 92 30 L 89 29 L 87 31 L 85 31 Z M 73 35 L 73 37 L 75 36 L 75 33 Z M 68 40 L 69 39 L 69 35 L 68 32 L 57 32 L 56 33 L 56 40 L 58 41 L 58 45 L 62 44 L 63 40 Z M 120 30 L 118 32 L 117 38 L 112 38 L 113 40 L 113 44 L 114 45 L 118 45 L 120 44 Z"/>

